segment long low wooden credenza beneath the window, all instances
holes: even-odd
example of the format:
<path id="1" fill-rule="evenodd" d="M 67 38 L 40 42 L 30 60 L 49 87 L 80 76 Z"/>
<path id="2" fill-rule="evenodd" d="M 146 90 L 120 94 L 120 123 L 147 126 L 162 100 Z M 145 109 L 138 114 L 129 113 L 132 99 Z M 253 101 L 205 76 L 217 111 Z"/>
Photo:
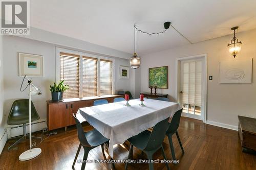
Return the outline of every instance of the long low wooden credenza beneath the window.
<path id="1" fill-rule="evenodd" d="M 73 113 L 76 113 L 79 108 L 93 106 L 93 102 L 99 99 L 106 99 L 109 103 L 113 103 L 115 98 L 124 98 L 124 95 L 108 95 L 104 97 L 91 98 L 75 98 L 66 99 L 63 102 L 47 101 L 47 126 L 49 130 L 58 128 L 67 128 L 75 125 Z"/>

